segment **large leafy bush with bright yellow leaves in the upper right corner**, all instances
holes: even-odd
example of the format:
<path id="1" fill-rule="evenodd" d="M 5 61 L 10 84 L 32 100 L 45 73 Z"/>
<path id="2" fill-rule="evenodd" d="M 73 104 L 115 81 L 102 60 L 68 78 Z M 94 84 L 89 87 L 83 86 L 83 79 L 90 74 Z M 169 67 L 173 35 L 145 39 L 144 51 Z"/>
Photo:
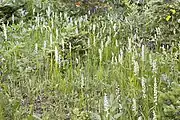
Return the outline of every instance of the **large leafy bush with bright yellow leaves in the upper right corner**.
<path id="1" fill-rule="evenodd" d="M 122 24 L 128 28 L 127 32 L 136 36 L 135 40 L 143 44 L 156 43 L 156 49 L 163 45 L 178 46 L 180 33 L 179 2 L 165 3 L 150 0 L 144 5 L 129 4 L 123 15 Z M 115 14 L 119 11 L 115 10 Z M 116 18 L 117 19 L 117 18 Z M 121 17 L 122 19 L 122 17 Z M 128 26 L 128 27 L 127 27 Z M 148 45 L 147 45 L 148 46 Z"/>

